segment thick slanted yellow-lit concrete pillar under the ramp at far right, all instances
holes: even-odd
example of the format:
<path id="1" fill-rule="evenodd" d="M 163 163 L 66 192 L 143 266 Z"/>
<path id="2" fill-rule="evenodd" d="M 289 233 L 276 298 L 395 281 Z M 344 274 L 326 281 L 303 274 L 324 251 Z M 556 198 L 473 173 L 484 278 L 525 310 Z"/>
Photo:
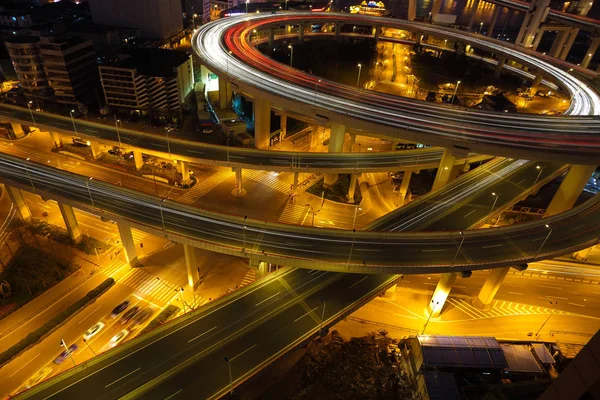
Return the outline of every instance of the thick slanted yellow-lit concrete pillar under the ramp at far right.
<path id="1" fill-rule="evenodd" d="M 544 218 L 571 209 L 595 170 L 595 165 L 571 166 L 546 209 Z"/>

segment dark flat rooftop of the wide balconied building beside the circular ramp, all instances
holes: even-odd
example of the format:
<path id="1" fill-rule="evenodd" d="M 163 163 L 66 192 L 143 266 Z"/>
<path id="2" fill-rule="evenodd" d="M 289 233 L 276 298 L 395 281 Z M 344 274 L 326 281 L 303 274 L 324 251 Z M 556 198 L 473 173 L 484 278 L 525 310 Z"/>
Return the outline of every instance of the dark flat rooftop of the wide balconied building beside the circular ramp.
<path id="1" fill-rule="evenodd" d="M 171 76 L 174 69 L 189 60 L 187 53 L 156 48 L 136 49 L 128 57 L 111 64 L 120 68 L 135 68 L 147 76 Z"/>

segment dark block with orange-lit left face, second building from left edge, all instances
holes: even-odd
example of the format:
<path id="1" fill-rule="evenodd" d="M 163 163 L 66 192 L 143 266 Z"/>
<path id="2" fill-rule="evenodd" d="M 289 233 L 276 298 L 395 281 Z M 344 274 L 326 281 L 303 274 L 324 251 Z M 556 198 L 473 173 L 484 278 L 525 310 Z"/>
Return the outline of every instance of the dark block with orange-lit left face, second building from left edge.
<path id="1" fill-rule="evenodd" d="M 92 42 L 68 37 L 40 38 L 40 54 L 56 101 L 89 103 L 98 83 L 96 53 Z"/>

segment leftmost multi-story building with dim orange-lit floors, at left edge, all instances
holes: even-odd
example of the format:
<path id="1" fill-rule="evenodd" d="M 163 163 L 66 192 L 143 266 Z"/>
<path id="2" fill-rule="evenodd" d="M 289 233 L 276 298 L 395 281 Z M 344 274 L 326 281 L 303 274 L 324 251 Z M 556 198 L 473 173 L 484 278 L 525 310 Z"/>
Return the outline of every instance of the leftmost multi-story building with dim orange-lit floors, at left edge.
<path id="1" fill-rule="evenodd" d="M 48 79 L 40 54 L 40 40 L 35 36 L 15 36 L 4 41 L 25 95 L 42 95 Z"/>

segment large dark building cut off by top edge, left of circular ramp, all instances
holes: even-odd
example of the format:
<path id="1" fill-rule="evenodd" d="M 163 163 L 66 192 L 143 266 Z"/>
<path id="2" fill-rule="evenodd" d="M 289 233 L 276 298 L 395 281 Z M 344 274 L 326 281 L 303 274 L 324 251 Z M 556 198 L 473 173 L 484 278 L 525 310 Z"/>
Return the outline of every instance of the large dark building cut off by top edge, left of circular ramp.
<path id="1" fill-rule="evenodd" d="M 140 30 L 147 39 L 168 40 L 183 31 L 181 0 L 89 0 L 95 24 Z"/>

